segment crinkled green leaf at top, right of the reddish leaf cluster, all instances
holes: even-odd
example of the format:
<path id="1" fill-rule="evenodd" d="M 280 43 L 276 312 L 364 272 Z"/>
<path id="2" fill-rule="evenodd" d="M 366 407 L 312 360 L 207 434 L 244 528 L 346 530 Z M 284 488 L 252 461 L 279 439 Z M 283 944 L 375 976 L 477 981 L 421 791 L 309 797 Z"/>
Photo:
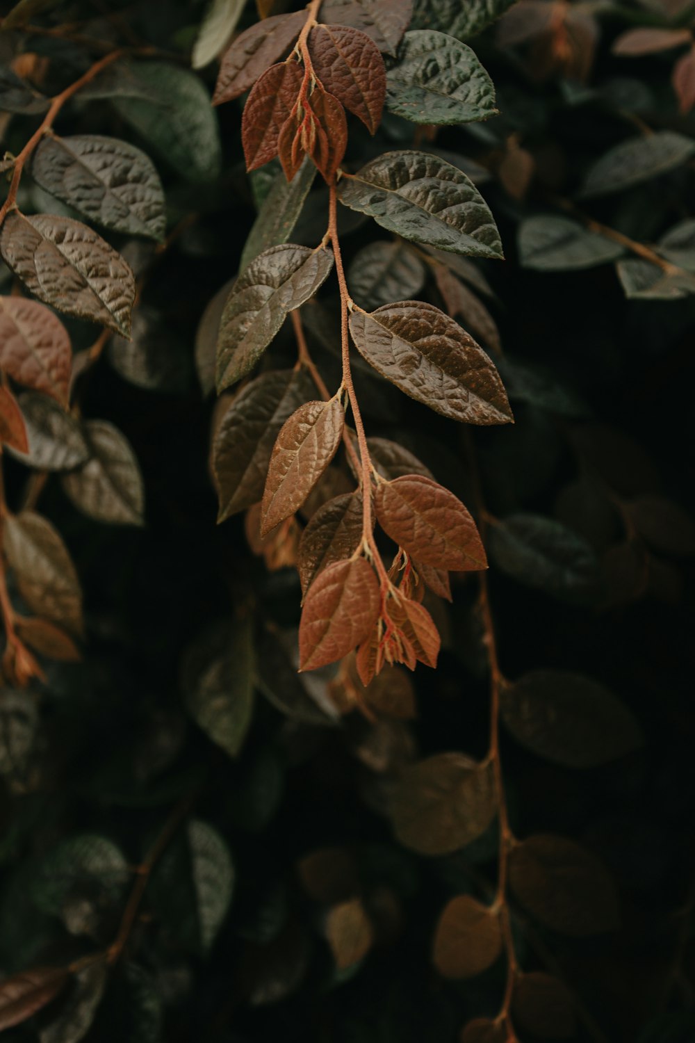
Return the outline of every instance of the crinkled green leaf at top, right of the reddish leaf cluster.
<path id="1" fill-rule="evenodd" d="M 406 32 L 387 74 L 387 107 L 413 123 L 495 116 L 495 88 L 474 51 L 444 32 Z"/>

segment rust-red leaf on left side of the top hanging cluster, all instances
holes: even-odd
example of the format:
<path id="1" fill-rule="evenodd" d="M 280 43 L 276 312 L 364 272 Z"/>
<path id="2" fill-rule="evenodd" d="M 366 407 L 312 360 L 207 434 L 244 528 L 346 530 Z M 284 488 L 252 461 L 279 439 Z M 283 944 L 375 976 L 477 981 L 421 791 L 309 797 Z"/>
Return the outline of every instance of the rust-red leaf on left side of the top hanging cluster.
<path id="1" fill-rule="evenodd" d="M 302 71 L 296 62 L 271 66 L 251 91 L 242 117 L 246 169 L 255 170 L 277 155 L 277 139 L 297 99 Z"/>

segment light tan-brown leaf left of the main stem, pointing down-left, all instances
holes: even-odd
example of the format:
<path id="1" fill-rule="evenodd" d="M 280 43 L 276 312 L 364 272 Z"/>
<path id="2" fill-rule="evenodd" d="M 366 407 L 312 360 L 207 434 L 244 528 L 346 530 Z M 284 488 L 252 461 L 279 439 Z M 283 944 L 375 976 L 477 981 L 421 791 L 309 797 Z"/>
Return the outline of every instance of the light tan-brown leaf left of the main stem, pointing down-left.
<path id="1" fill-rule="evenodd" d="M 345 412 L 340 398 L 307 402 L 284 421 L 270 458 L 260 534 L 294 514 L 336 455 Z"/>

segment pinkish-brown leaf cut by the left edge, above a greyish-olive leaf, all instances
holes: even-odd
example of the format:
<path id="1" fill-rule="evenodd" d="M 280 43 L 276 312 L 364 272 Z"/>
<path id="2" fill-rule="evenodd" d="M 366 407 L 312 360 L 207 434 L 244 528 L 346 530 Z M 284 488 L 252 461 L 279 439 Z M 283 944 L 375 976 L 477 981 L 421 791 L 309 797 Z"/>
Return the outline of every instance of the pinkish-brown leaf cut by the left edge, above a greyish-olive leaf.
<path id="1" fill-rule="evenodd" d="M 18 384 L 68 401 L 68 331 L 53 312 L 26 297 L 0 297 L 0 369 Z"/>

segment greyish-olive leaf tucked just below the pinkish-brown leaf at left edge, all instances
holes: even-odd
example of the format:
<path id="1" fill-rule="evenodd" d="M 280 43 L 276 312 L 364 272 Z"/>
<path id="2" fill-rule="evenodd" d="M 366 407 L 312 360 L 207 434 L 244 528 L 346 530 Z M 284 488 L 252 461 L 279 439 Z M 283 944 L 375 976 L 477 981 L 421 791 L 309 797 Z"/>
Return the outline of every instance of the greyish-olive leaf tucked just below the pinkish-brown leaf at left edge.
<path id="1" fill-rule="evenodd" d="M 90 451 L 78 421 L 53 398 L 27 391 L 19 396 L 29 450 L 14 456 L 39 470 L 69 470 L 84 463 Z"/>

